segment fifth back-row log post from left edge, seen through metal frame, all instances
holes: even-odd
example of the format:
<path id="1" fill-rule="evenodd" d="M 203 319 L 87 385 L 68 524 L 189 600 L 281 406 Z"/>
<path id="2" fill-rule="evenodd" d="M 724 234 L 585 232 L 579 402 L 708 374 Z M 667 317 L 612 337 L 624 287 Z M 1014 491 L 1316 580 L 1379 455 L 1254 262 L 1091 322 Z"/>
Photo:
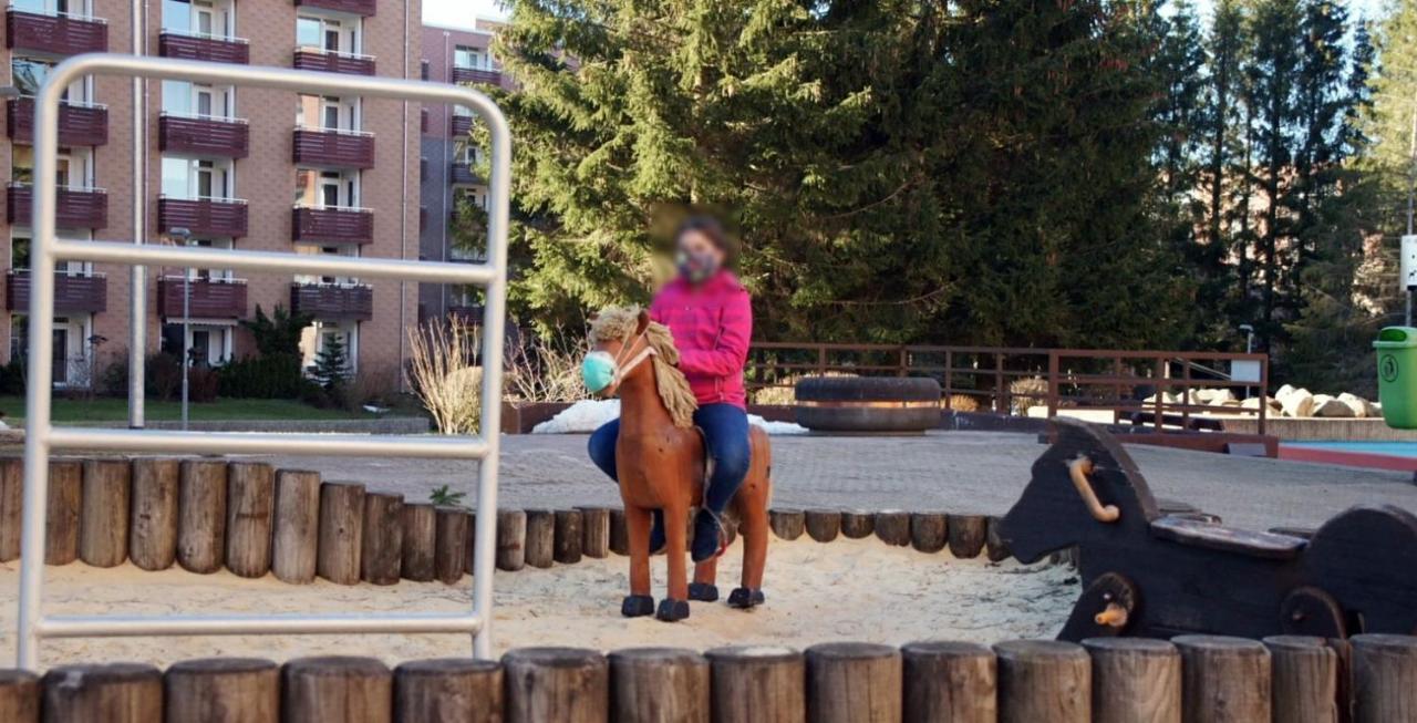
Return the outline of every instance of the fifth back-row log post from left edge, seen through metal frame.
<path id="1" fill-rule="evenodd" d="M 227 544 L 227 462 L 184 459 L 177 481 L 177 564 L 215 573 Z"/>

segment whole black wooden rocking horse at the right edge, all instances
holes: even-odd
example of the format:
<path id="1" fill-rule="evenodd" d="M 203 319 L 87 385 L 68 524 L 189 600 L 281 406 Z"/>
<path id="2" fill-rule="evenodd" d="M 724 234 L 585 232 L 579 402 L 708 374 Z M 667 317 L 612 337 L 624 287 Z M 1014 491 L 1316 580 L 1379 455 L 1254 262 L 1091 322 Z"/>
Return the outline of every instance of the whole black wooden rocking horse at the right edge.
<path id="1" fill-rule="evenodd" d="M 1084 588 L 1060 639 L 1417 632 L 1407 510 L 1350 508 L 1308 539 L 1163 515 L 1112 435 L 1070 420 L 1054 428 L 1000 536 L 1024 563 L 1078 547 Z"/>

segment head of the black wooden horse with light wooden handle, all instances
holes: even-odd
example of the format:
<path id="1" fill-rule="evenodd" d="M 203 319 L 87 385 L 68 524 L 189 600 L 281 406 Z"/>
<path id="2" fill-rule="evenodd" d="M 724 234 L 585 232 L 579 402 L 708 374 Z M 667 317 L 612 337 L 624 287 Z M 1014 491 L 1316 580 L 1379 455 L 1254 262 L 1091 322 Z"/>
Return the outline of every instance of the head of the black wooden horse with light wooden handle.
<path id="1" fill-rule="evenodd" d="M 1093 540 L 1148 534 L 1156 500 L 1122 445 L 1076 420 L 1053 420 L 1053 428 L 1057 441 L 1033 462 L 1029 486 L 1000 525 L 1015 557 L 1032 563 Z"/>

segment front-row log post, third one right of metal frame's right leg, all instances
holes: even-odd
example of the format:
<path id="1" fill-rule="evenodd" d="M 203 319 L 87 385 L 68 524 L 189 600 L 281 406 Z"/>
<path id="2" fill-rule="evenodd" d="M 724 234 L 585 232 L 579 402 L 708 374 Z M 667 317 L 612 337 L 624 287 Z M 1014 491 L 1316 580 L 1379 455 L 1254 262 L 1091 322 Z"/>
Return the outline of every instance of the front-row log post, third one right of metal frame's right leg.
<path id="1" fill-rule="evenodd" d="M 708 658 L 714 723 L 806 720 L 806 661 L 791 648 L 714 648 Z"/>

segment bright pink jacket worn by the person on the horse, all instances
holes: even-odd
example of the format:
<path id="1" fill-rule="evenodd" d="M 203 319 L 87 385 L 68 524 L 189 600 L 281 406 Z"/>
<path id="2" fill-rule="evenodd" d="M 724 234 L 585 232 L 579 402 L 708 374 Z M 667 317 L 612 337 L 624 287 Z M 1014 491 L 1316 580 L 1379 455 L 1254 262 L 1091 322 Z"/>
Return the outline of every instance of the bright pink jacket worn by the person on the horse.
<path id="1" fill-rule="evenodd" d="M 679 369 L 699 404 L 747 407 L 743 367 L 752 337 L 752 305 L 737 276 L 723 271 L 700 286 L 676 278 L 655 295 L 649 316 L 673 333 Z"/>

